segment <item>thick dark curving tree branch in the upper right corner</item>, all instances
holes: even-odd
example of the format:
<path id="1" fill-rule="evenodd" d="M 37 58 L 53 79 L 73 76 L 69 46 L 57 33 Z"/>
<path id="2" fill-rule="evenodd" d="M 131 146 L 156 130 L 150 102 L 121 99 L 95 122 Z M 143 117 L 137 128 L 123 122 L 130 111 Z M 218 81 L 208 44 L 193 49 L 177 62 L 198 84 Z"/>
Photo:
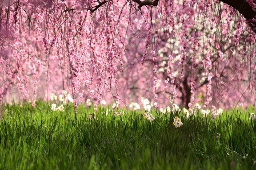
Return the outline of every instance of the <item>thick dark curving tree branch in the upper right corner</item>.
<path id="1" fill-rule="evenodd" d="M 246 0 L 219 0 L 227 5 L 230 5 L 234 9 L 238 10 L 245 19 L 248 21 L 249 26 L 256 33 L 256 9 L 251 7 Z"/>

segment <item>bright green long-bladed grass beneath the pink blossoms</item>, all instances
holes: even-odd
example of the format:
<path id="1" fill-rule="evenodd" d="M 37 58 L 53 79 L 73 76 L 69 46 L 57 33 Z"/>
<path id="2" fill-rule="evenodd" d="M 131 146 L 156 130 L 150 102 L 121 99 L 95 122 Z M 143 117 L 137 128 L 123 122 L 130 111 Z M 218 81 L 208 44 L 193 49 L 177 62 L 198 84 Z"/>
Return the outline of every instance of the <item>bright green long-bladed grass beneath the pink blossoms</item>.
<path id="1" fill-rule="evenodd" d="M 256 121 L 246 111 L 214 121 L 200 113 L 139 111 L 115 117 L 99 108 L 51 111 L 47 102 L 3 105 L 0 169 L 256 169 Z M 174 117 L 183 122 L 175 128 Z"/>

